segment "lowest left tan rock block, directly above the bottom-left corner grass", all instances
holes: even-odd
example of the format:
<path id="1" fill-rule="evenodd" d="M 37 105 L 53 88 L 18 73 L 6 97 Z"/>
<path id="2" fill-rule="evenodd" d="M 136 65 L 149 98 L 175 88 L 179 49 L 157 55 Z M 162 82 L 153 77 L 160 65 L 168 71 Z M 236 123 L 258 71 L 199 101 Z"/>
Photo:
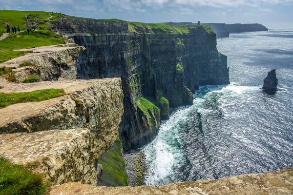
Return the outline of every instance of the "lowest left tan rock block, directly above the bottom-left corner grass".
<path id="1" fill-rule="evenodd" d="M 94 137 L 88 129 L 0 135 L 0 156 L 15 164 L 32 164 L 55 184 L 97 185 Z"/>

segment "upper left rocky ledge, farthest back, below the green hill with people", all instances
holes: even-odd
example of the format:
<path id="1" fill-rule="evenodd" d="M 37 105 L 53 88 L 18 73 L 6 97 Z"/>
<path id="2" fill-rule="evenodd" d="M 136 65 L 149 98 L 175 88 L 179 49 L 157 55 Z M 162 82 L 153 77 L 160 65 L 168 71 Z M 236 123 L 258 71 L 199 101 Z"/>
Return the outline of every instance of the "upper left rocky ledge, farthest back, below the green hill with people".
<path id="1" fill-rule="evenodd" d="M 24 61 L 35 64 L 35 66 L 13 69 L 8 76 L 8 80 L 11 82 L 22 82 L 33 74 L 40 76 L 41 80 L 76 79 L 76 60 L 79 58 L 81 51 L 85 50 L 84 47 L 76 46 L 76 44 L 69 43 L 23 49 L 20 51 L 32 50 L 33 53 L 11 59 L 0 64 L 0 66 L 19 66 Z"/>

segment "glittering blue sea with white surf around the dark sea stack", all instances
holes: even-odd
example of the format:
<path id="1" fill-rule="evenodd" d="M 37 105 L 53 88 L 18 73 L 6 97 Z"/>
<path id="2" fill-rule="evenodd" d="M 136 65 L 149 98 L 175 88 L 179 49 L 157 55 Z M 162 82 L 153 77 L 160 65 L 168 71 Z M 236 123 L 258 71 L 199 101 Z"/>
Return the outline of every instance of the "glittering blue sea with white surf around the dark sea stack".
<path id="1" fill-rule="evenodd" d="M 201 86 L 193 105 L 175 112 L 145 147 L 146 184 L 261 173 L 293 166 L 293 28 L 217 39 L 230 85 Z M 263 79 L 276 69 L 279 88 Z"/>

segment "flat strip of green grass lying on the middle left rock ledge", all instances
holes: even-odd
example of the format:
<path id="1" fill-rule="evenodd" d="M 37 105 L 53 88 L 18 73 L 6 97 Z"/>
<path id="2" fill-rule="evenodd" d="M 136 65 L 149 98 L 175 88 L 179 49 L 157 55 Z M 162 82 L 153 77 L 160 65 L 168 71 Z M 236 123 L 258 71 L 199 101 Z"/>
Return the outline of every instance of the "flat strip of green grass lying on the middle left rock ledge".
<path id="1" fill-rule="evenodd" d="M 65 95 L 63 89 L 42 89 L 32 92 L 0 93 L 0 108 L 24 102 L 39 102 Z"/>

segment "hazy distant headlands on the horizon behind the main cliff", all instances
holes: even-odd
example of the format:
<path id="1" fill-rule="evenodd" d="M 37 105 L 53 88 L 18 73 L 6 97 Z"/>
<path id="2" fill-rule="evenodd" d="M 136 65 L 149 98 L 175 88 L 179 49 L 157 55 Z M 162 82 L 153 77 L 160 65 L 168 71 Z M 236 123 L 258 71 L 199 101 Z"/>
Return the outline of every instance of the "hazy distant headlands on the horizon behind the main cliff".
<path id="1" fill-rule="evenodd" d="M 167 22 L 166 25 L 195 25 L 192 22 Z M 217 35 L 217 38 L 229 37 L 230 33 L 268 31 L 267 27 L 262 24 L 225 24 L 225 23 L 202 23 L 209 25 Z"/>

